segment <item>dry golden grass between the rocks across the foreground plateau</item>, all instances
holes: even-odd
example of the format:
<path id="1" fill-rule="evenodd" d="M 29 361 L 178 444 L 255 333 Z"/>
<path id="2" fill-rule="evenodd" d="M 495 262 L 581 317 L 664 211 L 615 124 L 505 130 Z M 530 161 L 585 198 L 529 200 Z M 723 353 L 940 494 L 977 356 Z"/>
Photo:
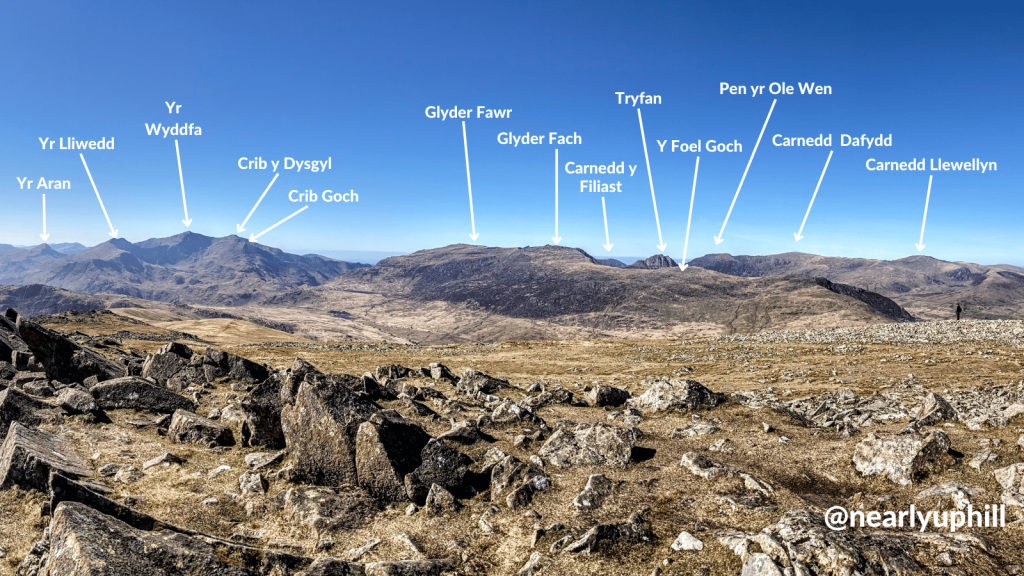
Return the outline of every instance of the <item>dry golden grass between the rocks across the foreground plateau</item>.
<path id="1" fill-rule="evenodd" d="M 136 327 L 136 331 L 138 331 Z M 196 333 L 195 330 L 188 330 Z M 926 388 L 942 393 L 946 388 L 964 388 L 981 385 L 987 380 L 1006 383 L 1022 376 L 1021 361 L 1024 356 L 1018 348 L 985 342 L 965 342 L 949 345 L 892 345 L 864 344 L 856 355 L 836 355 L 826 346 L 816 343 L 755 344 L 733 341 L 701 340 L 617 340 L 617 341 L 510 341 L 497 344 L 458 344 L 442 346 L 386 345 L 380 351 L 318 351 L 302 347 L 271 347 L 237 345 L 248 343 L 242 331 L 225 330 L 225 342 L 232 342 L 228 349 L 251 360 L 264 362 L 283 369 L 296 358 L 303 358 L 325 372 L 361 374 L 374 367 L 400 364 L 410 367 L 426 366 L 441 362 L 457 373 L 464 368 L 482 370 L 488 374 L 508 378 L 524 388 L 528 383 L 543 381 L 547 386 L 561 384 L 567 389 L 583 394 L 583 386 L 596 383 L 625 387 L 633 394 L 643 392 L 642 380 L 649 376 L 669 376 L 690 367 L 693 378 L 715 392 L 733 393 L 776 386 L 779 393 L 793 390 L 786 398 L 800 398 L 825 390 L 851 387 L 859 395 L 869 395 L 886 383 L 906 378 L 913 373 Z M 203 336 L 207 337 L 207 336 Z M 212 336 L 210 337 L 211 339 Z M 234 338 L 233 340 L 231 338 Z M 159 342 L 150 344 L 159 345 Z M 976 354 L 981 347 L 988 354 Z M 899 358 L 897 358 L 899 357 Z M 905 360 L 912 357 L 912 360 Z M 902 358 L 903 360 L 901 360 Z M 925 363 L 932 359 L 935 363 Z M 799 373 L 801 376 L 792 374 Z M 416 380 L 414 383 L 433 385 L 445 396 L 457 398 L 450 385 Z M 525 395 L 507 390 L 502 395 L 520 400 Z M 199 412 L 203 415 L 214 408 L 223 408 L 240 398 L 228 384 L 218 383 L 205 395 Z M 429 404 L 428 404 L 429 405 Z M 410 416 L 400 402 L 382 403 L 385 408 L 395 408 Z M 651 521 L 657 541 L 650 545 L 618 549 L 609 554 L 574 557 L 555 554 L 554 565 L 545 574 L 622 574 L 646 576 L 655 566 L 663 574 L 738 574 L 739 561 L 720 544 L 714 533 L 722 529 L 760 531 L 776 521 L 787 510 L 798 507 L 827 508 L 834 504 L 855 506 L 858 502 L 865 509 L 905 509 L 910 503 L 919 507 L 939 506 L 938 503 L 915 498 L 921 490 L 947 481 L 985 489 L 977 497 L 982 503 L 998 502 L 1001 489 L 995 483 L 991 469 L 1021 461 L 1017 439 L 1024 429 L 1024 417 L 1002 428 L 969 430 L 964 424 L 943 426 L 954 449 L 970 456 L 980 449 L 983 439 L 999 439 L 1001 446 L 993 450 L 999 455 L 997 466 L 986 464 L 982 472 L 967 465 L 967 458 L 950 466 L 941 475 L 928 478 L 910 487 L 898 487 L 876 477 L 861 477 L 853 467 L 851 457 L 854 445 L 863 436 L 840 438 L 833 430 L 816 430 L 797 425 L 779 413 L 754 410 L 736 403 L 697 412 L 702 418 L 719 418 L 722 430 L 714 436 L 689 439 L 670 439 L 673 429 L 693 422 L 692 414 L 652 415 L 639 427 L 644 436 L 639 446 L 653 450 L 653 456 L 634 462 L 627 468 L 572 467 L 548 468 L 553 487 L 540 493 L 531 508 L 543 518 L 526 518 L 522 511 L 502 509 L 488 517 L 497 532 L 484 534 L 478 527 L 479 519 L 490 502 L 482 498 L 469 500 L 458 515 L 426 519 L 422 513 L 407 517 L 403 505 L 392 505 L 365 527 L 331 534 L 312 534 L 308 530 L 288 524 L 278 515 L 247 518 L 245 501 L 232 501 L 225 492 L 238 492 L 238 477 L 246 469 L 245 455 L 255 450 L 231 448 L 223 453 L 171 443 L 152 430 L 135 430 L 125 422 L 136 417 L 132 412 L 115 412 L 112 424 L 84 424 L 70 422 L 62 433 L 76 440 L 81 452 L 92 458 L 93 465 L 117 462 L 141 468 L 142 462 L 165 451 L 183 456 L 187 462 L 167 468 L 147 470 L 145 477 L 131 485 L 120 485 L 112 479 L 101 482 L 114 490 L 116 499 L 125 496 L 145 496 L 137 507 L 152 516 L 187 528 L 227 537 L 237 528 L 266 530 L 265 541 L 282 539 L 293 543 L 302 553 L 343 556 L 350 548 L 380 538 L 383 543 L 374 548 L 360 562 L 412 558 L 464 557 L 467 572 L 506 575 L 517 571 L 532 551 L 547 553 L 547 548 L 562 534 L 549 535 L 537 548 L 530 548 L 535 524 L 548 526 L 562 523 L 581 533 L 596 523 L 622 522 L 631 512 L 642 507 L 651 508 Z M 549 424 L 566 418 L 575 422 L 607 421 L 608 410 L 602 408 L 573 408 L 565 405 L 545 407 L 540 415 Z M 444 419 L 422 423 L 431 435 L 449 428 Z M 762 422 L 777 431 L 765 434 Z M 877 433 L 896 431 L 903 422 L 871 426 Z M 241 438 L 239 426 L 233 424 L 236 438 Z M 528 425 L 512 425 L 488 429 L 496 443 L 478 443 L 464 451 L 480 456 L 490 446 L 528 459 L 539 445 L 517 448 L 513 438 Z M 56 428 L 53 428 L 54 430 Z M 866 431 L 866 430 L 865 430 Z M 790 439 L 781 444 L 779 436 Z M 734 449 L 729 454 L 708 453 L 713 442 L 728 438 Z M 718 494 L 735 489 L 734 480 L 705 481 L 679 467 L 681 456 L 688 451 L 700 451 L 726 461 L 739 469 L 770 482 L 777 491 L 777 510 L 752 511 L 732 509 L 717 498 Z M 231 470 L 215 480 L 208 480 L 209 470 L 226 464 Z M 615 483 L 612 497 L 600 510 L 581 515 L 572 506 L 572 499 L 587 483 L 591 474 L 604 474 Z M 295 488 L 283 481 L 271 483 L 269 497 L 280 491 Z M 889 501 L 878 501 L 880 496 L 891 496 Z M 200 506 L 199 502 L 215 496 L 215 506 Z M 41 496 L 8 491 L 0 494 L 0 512 L 8 519 L 0 523 L 0 546 L 8 550 L 7 564 L 0 563 L 0 572 L 14 566 L 32 542 L 42 534 L 39 522 Z M 948 503 L 946 504 L 948 506 Z M 1008 521 L 1015 520 L 1016 511 L 1008 509 Z M 1012 517 L 1012 518 L 1011 518 Z M 11 521 L 12 520 L 12 521 Z M 700 552 L 676 552 L 670 544 L 682 530 L 687 530 L 703 541 Z M 1020 528 L 1007 530 L 982 529 L 976 533 L 989 540 L 991 553 L 1004 565 L 1024 564 L 1024 537 Z M 418 557 L 404 544 L 394 539 L 399 534 L 411 534 L 424 550 Z M 315 551 L 317 539 L 334 541 L 331 551 Z M 666 561 L 669 561 L 666 564 Z"/>

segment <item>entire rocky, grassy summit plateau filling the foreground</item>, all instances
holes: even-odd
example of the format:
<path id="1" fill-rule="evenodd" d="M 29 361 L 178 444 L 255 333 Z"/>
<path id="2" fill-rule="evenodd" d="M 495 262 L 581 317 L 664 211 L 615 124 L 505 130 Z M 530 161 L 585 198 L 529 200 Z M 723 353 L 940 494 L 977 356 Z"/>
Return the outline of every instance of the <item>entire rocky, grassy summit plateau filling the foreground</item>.
<path id="1" fill-rule="evenodd" d="M 1022 343 L 253 342 L 8 308 L 0 573 L 1020 574 Z M 1001 523 L 834 530 L 837 506 Z"/>

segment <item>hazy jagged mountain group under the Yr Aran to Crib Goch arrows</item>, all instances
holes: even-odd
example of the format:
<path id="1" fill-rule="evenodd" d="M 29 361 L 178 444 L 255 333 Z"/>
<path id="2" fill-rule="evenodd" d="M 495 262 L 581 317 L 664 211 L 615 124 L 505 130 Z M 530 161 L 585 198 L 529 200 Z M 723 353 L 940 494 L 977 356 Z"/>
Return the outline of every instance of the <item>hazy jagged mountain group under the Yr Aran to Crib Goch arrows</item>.
<path id="1" fill-rule="evenodd" d="M 45 284 L 166 302 L 239 305 L 315 286 L 366 264 L 298 256 L 237 236 L 184 233 L 133 244 L 114 239 L 65 254 L 43 244 L 0 251 L 0 284 Z"/>

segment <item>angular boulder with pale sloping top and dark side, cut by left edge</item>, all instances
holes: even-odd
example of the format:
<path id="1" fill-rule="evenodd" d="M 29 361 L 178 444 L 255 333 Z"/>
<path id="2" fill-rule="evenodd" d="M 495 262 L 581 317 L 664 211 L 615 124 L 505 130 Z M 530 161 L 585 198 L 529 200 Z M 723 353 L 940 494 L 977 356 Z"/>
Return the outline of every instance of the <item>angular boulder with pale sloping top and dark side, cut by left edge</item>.
<path id="1" fill-rule="evenodd" d="M 70 477 L 91 474 L 71 442 L 46 430 L 11 423 L 0 446 L 0 490 L 19 486 L 45 492 L 51 471 Z"/>

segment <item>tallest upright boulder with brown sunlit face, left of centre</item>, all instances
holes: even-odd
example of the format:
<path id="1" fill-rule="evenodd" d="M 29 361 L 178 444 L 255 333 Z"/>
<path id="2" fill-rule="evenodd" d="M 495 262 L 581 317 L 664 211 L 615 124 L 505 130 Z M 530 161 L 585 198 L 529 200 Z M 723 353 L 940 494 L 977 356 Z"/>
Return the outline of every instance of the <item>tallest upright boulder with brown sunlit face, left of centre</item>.
<path id="1" fill-rule="evenodd" d="M 281 414 L 290 478 L 318 486 L 356 484 L 355 435 L 377 407 L 330 379 L 307 377 Z"/>

